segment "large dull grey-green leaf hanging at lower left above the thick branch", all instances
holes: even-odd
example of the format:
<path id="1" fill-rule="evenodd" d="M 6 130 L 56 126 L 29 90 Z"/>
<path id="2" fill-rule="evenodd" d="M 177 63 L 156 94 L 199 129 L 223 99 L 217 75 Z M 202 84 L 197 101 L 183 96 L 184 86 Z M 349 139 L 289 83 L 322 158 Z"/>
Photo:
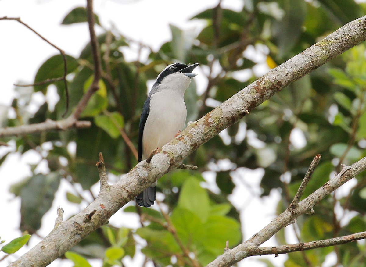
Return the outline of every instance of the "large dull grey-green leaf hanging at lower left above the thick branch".
<path id="1" fill-rule="evenodd" d="M 55 192 L 60 185 L 58 173 L 36 174 L 20 191 L 20 230 L 36 232 L 41 227 L 43 215 L 51 208 Z"/>

